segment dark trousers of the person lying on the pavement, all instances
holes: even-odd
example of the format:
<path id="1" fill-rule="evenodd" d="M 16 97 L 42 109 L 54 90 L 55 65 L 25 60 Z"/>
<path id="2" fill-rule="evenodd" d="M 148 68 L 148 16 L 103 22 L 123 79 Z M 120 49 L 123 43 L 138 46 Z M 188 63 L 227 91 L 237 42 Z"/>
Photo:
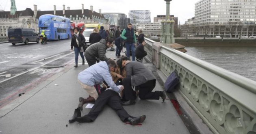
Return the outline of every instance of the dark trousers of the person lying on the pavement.
<path id="1" fill-rule="evenodd" d="M 120 96 L 118 93 L 112 90 L 102 92 L 96 100 L 94 106 L 91 108 L 89 114 L 85 116 L 92 121 L 95 121 L 106 104 L 115 110 L 121 121 L 125 121 L 126 118 L 130 117 L 121 104 Z"/>

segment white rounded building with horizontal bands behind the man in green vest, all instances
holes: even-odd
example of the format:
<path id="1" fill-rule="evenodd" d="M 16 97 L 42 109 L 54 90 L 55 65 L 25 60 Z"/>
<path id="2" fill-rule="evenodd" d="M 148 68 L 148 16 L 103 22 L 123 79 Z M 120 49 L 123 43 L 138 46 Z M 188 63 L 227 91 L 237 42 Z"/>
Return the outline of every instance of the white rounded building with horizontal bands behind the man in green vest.
<path id="1" fill-rule="evenodd" d="M 128 13 L 130 23 L 136 28 L 137 23 L 150 23 L 151 13 L 149 10 L 130 10 Z"/>

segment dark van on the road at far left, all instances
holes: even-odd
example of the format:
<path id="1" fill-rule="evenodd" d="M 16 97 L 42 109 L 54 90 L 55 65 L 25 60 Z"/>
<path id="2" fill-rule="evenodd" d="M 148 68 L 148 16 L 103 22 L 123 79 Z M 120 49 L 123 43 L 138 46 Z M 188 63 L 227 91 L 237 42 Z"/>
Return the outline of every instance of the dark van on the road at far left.
<path id="1" fill-rule="evenodd" d="M 37 42 L 39 43 L 39 36 L 34 29 L 14 28 L 8 30 L 8 41 L 13 45 L 16 43 Z"/>

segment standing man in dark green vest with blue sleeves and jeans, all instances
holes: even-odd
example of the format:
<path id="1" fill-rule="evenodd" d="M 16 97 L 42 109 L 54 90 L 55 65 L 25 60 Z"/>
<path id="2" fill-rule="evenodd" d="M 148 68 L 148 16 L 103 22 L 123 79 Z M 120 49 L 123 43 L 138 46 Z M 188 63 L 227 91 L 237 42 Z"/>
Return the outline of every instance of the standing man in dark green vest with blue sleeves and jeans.
<path id="1" fill-rule="evenodd" d="M 121 37 L 126 40 L 126 56 L 130 56 L 130 51 L 132 51 L 132 61 L 135 61 L 135 44 L 136 37 L 132 24 L 128 24 L 127 28 L 123 30 Z"/>

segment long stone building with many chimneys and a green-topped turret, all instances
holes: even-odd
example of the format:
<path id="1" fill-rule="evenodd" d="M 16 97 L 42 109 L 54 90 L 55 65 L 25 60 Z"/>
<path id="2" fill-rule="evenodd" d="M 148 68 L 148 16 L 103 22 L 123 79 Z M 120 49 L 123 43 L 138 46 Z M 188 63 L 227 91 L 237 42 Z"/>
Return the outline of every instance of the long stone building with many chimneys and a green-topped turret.
<path id="1" fill-rule="evenodd" d="M 72 20 L 73 22 L 85 22 L 85 23 L 102 23 L 104 26 L 108 26 L 108 20 L 102 15 L 101 10 L 99 13 L 93 11 L 93 6 L 89 9 L 70 10 L 70 7 L 63 10 L 56 10 L 56 6 L 52 11 L 39 11 L 37 5 L 34 5 L 34 10 L 26 8 L 24 11 L 17 11 L 15 6 L 15 0 L 11 0 L 11 11 L 0 11 L 0 36 L 8 36 L 9 28 L 32 28 L 38 33 L 38 19 L 41 15 L 52 14 L 64 16 Z"/>

